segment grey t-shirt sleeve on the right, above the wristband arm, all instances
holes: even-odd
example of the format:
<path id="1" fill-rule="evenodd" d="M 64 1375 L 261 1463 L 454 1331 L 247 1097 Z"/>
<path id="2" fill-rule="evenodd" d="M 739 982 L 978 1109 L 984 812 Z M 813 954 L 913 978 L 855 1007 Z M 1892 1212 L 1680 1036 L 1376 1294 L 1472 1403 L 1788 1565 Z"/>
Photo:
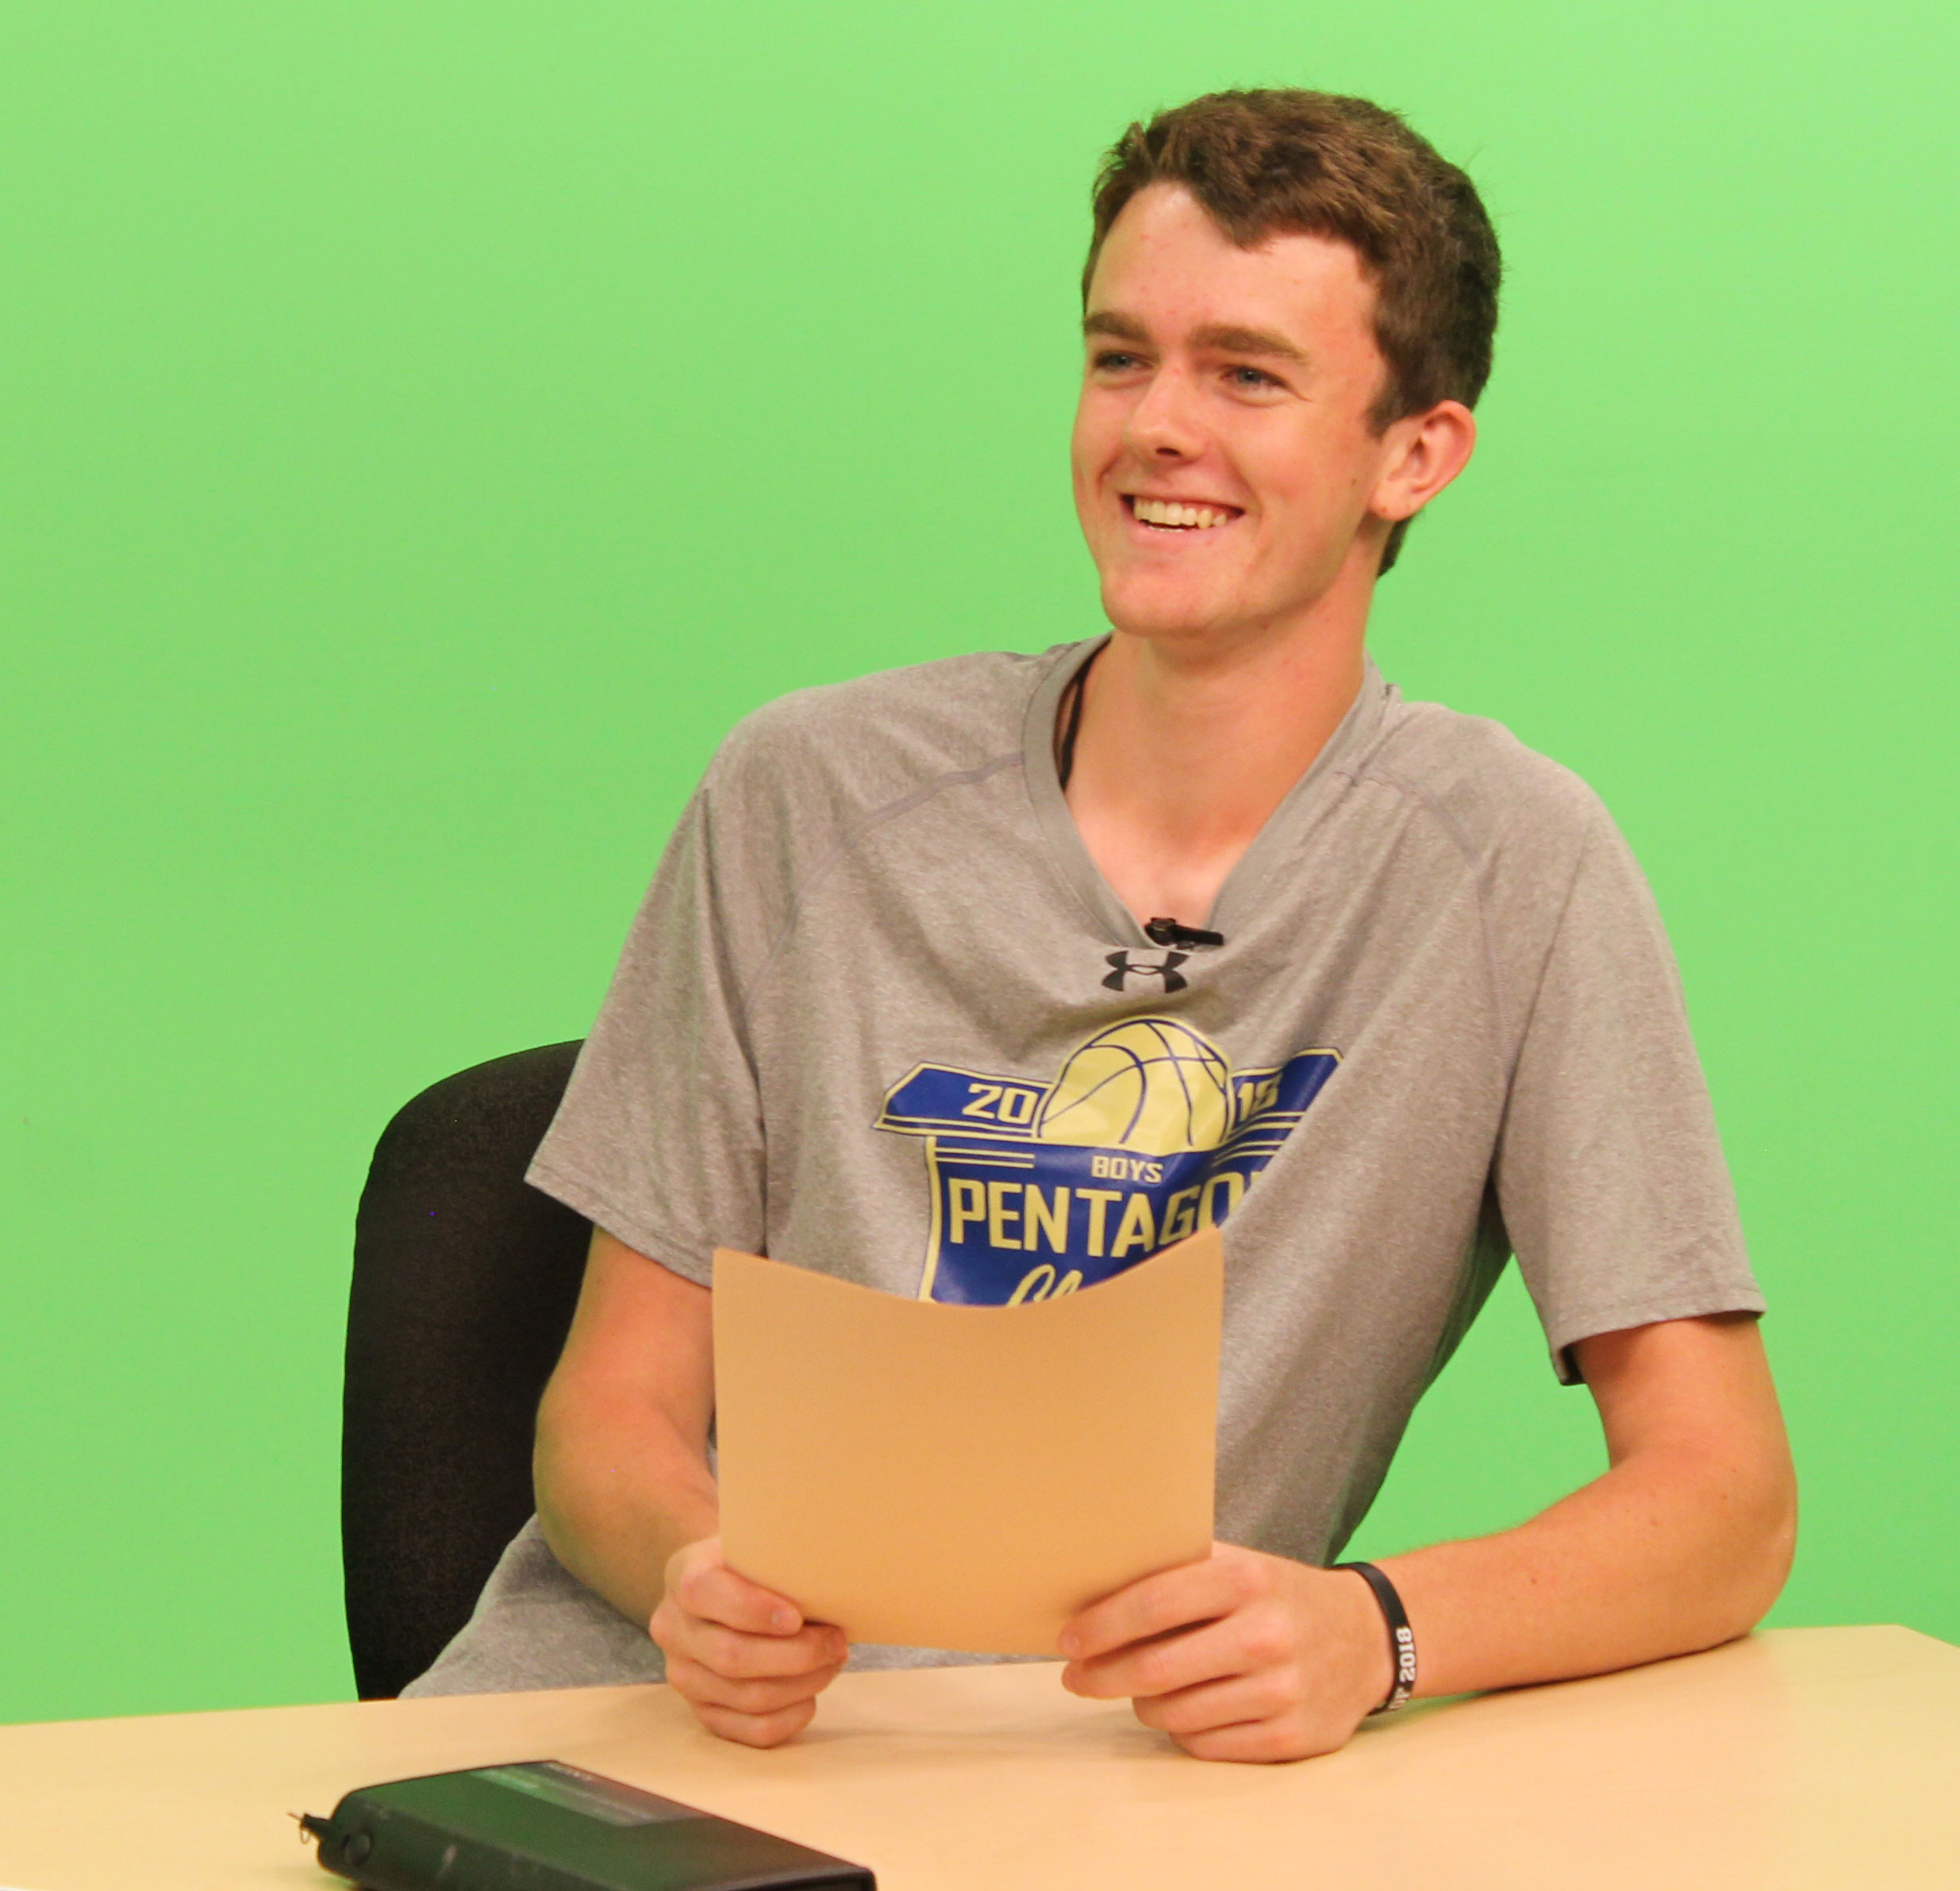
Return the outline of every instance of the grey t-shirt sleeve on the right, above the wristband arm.
<path id="1" fill-rule="evenodd" d="M 1495 1184 L 1566 1383 L 1568 1348 L 1593 1333 L 1762 1311 L 1674 954 L 1597 803 L 1525 1019 Z"/>

